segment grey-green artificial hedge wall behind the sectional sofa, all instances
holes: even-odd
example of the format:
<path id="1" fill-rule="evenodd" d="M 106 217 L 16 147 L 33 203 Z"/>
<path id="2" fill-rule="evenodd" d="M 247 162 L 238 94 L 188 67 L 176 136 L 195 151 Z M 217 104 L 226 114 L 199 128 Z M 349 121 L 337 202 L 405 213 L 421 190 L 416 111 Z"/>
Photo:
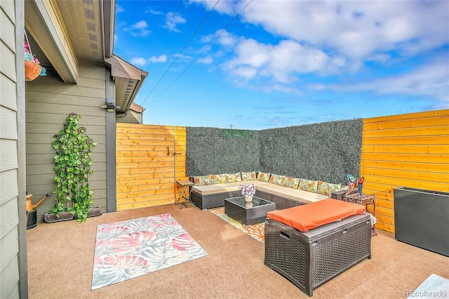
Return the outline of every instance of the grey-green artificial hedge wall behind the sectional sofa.
<path id="1" fill-rule="evenodd" d="M 362 131 L 363 119 L 261 131 L 187 127 L 187 175 L 263 171 L 346 183 L 347 173 L 360 175 Z"/>

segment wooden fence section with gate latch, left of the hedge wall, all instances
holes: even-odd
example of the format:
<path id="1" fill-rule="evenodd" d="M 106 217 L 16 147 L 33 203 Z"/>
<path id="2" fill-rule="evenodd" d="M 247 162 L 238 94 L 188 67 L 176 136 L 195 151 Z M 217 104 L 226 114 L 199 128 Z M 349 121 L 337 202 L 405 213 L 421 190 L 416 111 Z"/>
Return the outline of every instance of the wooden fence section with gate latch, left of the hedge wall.
<path id="1" fill-rule="evenodd" d="M 186 180 L 186 128 L 117 124 L 117 211 L 174 204 Z"/>

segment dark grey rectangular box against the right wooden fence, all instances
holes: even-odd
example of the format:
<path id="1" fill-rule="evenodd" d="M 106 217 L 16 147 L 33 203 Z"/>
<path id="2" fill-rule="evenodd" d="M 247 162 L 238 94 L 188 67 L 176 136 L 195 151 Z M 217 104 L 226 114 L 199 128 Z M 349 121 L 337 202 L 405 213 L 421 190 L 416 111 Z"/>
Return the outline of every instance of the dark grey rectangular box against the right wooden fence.
<path id="1" fill-rule="evenodd" d="M 449 193 L 396 188 L 394 227 L 396 240 L 449 256 Z"/>

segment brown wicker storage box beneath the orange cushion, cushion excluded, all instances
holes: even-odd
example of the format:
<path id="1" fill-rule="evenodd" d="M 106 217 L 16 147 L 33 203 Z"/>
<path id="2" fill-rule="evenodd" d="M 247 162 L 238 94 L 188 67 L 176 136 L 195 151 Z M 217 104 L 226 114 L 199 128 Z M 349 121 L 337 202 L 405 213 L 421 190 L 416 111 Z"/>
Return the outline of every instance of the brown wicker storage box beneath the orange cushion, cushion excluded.
<path id="1" fill-rule="evenodd" d="M 267 218 L 264 263 L 307 295 L 365 258 L 371 258 L 370 215 L 351 215 L 308 232 Z"/>

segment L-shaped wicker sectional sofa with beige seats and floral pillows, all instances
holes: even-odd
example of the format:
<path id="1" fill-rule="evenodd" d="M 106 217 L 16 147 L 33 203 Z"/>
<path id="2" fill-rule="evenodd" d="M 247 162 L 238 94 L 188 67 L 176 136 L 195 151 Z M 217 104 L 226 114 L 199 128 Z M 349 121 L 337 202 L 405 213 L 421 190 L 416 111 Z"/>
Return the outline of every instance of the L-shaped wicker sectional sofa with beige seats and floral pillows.
<path id="1" fill-rule="evenodd" d="M 255 171 L 201 175 L 194 176 L 191 180 L 195 185 L 192 186 L 190 199 L 202 210 L 224 206 L 225 199 L 240 197 L 241 184 L 255 184 L 255 197 L 274 202 L 276 210 L 309 204 L 329 197 L 341 199 L 345 192 L 340 184 Z"/>

